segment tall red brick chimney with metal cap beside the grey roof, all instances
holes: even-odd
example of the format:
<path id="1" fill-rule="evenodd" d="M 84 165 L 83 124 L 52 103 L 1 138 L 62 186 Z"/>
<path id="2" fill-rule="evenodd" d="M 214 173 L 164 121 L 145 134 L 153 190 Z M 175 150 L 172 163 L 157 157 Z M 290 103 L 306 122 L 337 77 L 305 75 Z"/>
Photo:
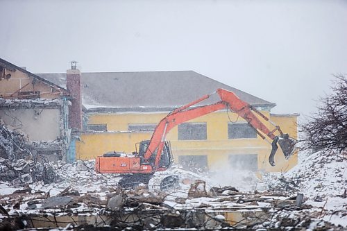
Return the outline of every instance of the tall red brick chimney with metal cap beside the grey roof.
<path id="1" fill-rule="evenodd" d="M 67 70 L 66 85 L 71 96 L 69 105 L 70 128 L 82 129 L 82 88 L 81 71 L 76 68 L 76 61 L 71 62 L 71 69 Z"/>

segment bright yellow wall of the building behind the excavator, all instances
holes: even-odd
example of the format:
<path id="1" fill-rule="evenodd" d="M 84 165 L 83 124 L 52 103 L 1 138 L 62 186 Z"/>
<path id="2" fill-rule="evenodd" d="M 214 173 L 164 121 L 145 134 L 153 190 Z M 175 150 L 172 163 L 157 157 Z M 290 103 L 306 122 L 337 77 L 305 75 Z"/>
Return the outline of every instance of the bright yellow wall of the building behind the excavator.
<path id="1" fill-rule="evenodd" d="M 296 138 L 297 115 L 276 116 L 269 112 L 262 112 L 266 117 L 280 125 L 283 132 L 289 132 Z M 85 132 L 81 135 L 81 142 L 76 143 L 76 157 L 87 160 L 94 159 L 108 151 L 124 151 L 132 153 L 135 144 L 151 138 L 151 132 L 128 132 L 131 123 L 158 123 L 167 113 L 119 113 L 119 114 L 90 114 L 88 124 L 107 124 L 108 132 Z M 241 122 L 237 114 L 229 112 L 231 121 Z M 259 171 L 288 171 L 297 164 L 297 155 L 289 160 L 280 150 L 276 153 L 276 166 L 268 162 L 271 152 L 271 142 L 264 141 L 259 135 L 253 139 L 228 139 L 229 117 L 226 111 L 214 112 L 189 122 L 207 123 L 207 140 L 178 140 L 178 129 L 173 128 L 166 139 L 171 142 L 174 159 L 178 162 L 180 155 L 207 155 L 209 169 L 220 168 L 229 162 L 229 155 L 257 154 Z M 263 121 L 268 128 L 273 126 Z"/>

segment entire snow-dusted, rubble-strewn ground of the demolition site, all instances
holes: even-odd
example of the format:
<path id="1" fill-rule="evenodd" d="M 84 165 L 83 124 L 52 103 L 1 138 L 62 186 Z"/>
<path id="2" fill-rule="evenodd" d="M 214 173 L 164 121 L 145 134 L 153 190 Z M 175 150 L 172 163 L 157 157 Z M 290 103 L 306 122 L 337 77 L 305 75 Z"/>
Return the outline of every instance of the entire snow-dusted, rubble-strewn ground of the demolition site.
<path id="1" fill-rule="evenodd" d="M 0 138 L 0 230 L 347 229 L 346 153 L 301 153 L 294 169 L 261 178 L 176 165 L 155 175 L 176 175 L 179 187 L 158 191 L 123 189 L 121 176 L 96 173 L 94 161 L 33 156 L 4 127 Z"/>

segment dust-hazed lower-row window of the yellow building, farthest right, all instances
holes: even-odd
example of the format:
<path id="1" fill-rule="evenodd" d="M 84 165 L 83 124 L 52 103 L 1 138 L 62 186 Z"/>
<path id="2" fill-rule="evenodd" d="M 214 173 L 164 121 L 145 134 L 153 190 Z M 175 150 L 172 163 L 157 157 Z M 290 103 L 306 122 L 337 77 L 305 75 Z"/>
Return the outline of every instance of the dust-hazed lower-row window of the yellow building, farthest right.
<path id="1" fill-rule="evenodd" d="M 229 155 L 229 163 L 232 169 L 257 171 L 258 155 L 257 154 Z"/>

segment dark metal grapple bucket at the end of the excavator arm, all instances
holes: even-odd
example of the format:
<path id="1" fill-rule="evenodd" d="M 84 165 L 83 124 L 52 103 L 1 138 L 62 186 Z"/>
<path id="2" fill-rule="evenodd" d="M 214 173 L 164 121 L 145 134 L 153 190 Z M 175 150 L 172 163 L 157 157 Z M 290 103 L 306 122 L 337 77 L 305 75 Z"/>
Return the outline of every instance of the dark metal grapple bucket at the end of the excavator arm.
<path id="1" fill-rule="evenodd" d="M 283 134 L 273 139 L 273 142 L 271 144 L 272 150 L 269 156 L 269 163 L 271 164 L 271 166 L 275 166 L 274 157 L 278 149 L 277 144 L 280 145 L 285 158 L 288 159 L 295 151 L 296 139 L 289 137 L 288 134 Z"/>

